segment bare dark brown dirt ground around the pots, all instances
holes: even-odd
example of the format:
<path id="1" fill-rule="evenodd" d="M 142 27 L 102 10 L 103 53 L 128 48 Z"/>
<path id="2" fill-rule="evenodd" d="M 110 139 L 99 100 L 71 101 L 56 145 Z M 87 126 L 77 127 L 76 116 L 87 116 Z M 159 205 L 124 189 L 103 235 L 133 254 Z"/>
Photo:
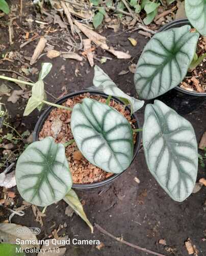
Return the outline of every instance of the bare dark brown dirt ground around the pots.
<path id="1" fill-rule="evenodd" d="M 33 10 L 30 11 L 33 12 Z M 6 22 L 5 18 L 2 18 L 2 21 Z M 17 22 L 19 23 L 19 19 L 17 19 Z M 6 44 L 6 50 L 2 53 L 11 50 L 11 48 L 19 49 L 18 38 L 21 36 L 21 30 L 15 30 L 15 44 L 12 47 L 7 44 L 8 31 L 1 26 L 0 33 L 0 44 Z M 122 70 L 127 70 L 132 61 L 134 63 L 137 62 L 147 40 L 137 32 L 134 32 L 132 36 L 137 39 L 138 44 L 136 47 L 133 47 L 130 41 L 127 40 L 131 36 L 130 33 L 124 32 L 118 36 L 114 36 L 113 30 L 107 30 L 103 34 L 110 36 L 109 40 L 113 46 L 118 46 L 118 49 L 124 51 L 128 50 L 133 58 L 132 60 L 120 60 L 108 53 L 104 53 L 104 55 L 113 57 L 113 59 L 108 60 L 104 65 L 97 64 L 119 84 L 124 92 L 136 96 L 133 74 L 130 72 L 122 76 L 117 74 Z M 35 46 L 36 41 L 24 47 L 24 51 L 26 50 L 28 52 L 28 56 L 32 55 Z M 101 50 L 97 52 L 100 55 L 102 53 Z M 41 57 L 33 67 L 40 69 L 41 62 L 43 61 L 48 61 L 47 57 Z M 94 72 L 87 61 L 84 61 L 83 67 L 78 61 L 63 60 L 60 57 L 49 61 L 53 63 L 53 69 L 45 79 L 48 83 L 46 84 L 46 90 L 53 93 L 56 97 L 62 94 L 61 89 L 63 87 L 66 87 L 69 93 L 91 86 Z M 14 65 L 17 65 L 17 62 Z M 62 65 L 65 65 L 65 74 L 60 71 Z M 12 63 L 8 62 L 4 62 L 1 68 L 15 70 Z M 81 76 L 76 77 L 74 75 L 76 68 L 79 69 Z M 36 80 L 37 75 L 31 78 Z M 12 83 L 9 84 L 14 86 Z M 49 100 L 53 99 L 49 98 Z M 7 104 L 11 115 L 11 122 L 14 123 L 17 114 L 22 116 L 22 106 L 25 101 L 12 104 L 7 102 L 7 98 L 4 97 L 3 102 Z M 143 124 L 143 113 L 143 109 L 138 112 L 141 124 Z M 29 117 L 23 117 L 21 122 L 25 124 L 27 129 L 32 131 L 39 115 L 35 111 Z M 206 130 L 205 115 L 205 101 L 199 106 L 199 109 L 185 115 L 185 118 L 193 124 L 198 141 Z M 135 182 L 135 177 L 138 177 L 140 184 Z M 199 167 L 198 179 L 202 177 L 205 177 L 205 168 Z M 15 191 L 17 194 L 15 202 L 20 206 L 22 199 L 18 196 L 16 188 L 10 190 Z M 99 196 L 98 194 L 101 191 L 102 193 Z M 176 256 L 188 255 L 184 242 L 190 238 L 200 251 L 198 255 L 203 256 L 206 254 L 206 242 L 202 241 L 202 238 L 206 236 L 206 209 L 203 205 L 206 199 L 206 187 L 203 187 L 199 193 L 191 195 L 183 203 L 174 202 L 164 193 L 163 189 L 160 188 L 148 172 L 142 150 L 131 167 L 108 187 L 84 191 L 76 190 L 76 192 L 84 200 L 84 209 L 91 222 L 98 223 L 116 237 L 121 237 L 122 235 L 126 241 L 130 241 L 131 243 L 158 251 L 165 255 Z M 67 227 L 63 228 L 59 232 L 59 235 L 66 233 L 71 239 L 99 239 L 105 244 L 105 247 L 101 250 L 97 250 L 95 246 L 67 246 L 66 256 L 146 255 L 144 252 L 139 252 L 134 248 L 103 236 L 96 229 L 91 234 L 88 226 L 78 216 L 73 215 L 72 218 L 69 218 L 64 214 L 66 206 L 66 203 L 63 201 L 48 206 L 45 212 L 46 217 L 43 217 L 43 227 L 35 221 L 31 208 L 25 210 L 24 217 L 14 216 L 12 223 L 28 227 L 40 227 L 41 234 L 38 238 L 43 239 L 47 238 L 55 228 L 58 229 L 60 224 L 63 225 L 66 222 Z M 5 213 L 4 217 L 1 217 L 1 220 L 3 221 L 7 218 L 8 212 Z M 167 246 L 160 245 L 158 243 L 160 239 L 166 239 Z M 168 252 L 167 247 L 173 248 L 174 253 Z"/>

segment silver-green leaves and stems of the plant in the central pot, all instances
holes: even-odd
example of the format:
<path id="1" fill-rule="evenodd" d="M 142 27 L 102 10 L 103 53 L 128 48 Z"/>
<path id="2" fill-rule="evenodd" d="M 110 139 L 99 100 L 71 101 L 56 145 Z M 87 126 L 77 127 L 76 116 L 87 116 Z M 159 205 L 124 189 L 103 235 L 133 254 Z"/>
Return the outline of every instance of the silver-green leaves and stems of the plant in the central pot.
<path id="1" fill-rule="evenodd" d="M 124 94 L 103 70 L 95 66 L 94 88 L 108 95 L 106 102 L 85 97 L 75 103 L 73 109 L 65 104 L 48 102 L 44 100 L 42 79 L 50 68 L 48 63 L 42 66 L 24 115 L 43 103 L 72 112 L 67 122 L 70 121 L 70 133 L 82 155 L 106 172 L 122 173 L 133 160 L 133 132 L 140 129 L 133 131 L 130 122 L 108 103 L 112 96 L 121 98 L 125 105 L 131 105 L 132 114 L 143 106 L 144 101 Z M 74 141 L 68 141 L 68 144 Z M 147 104 L 143 148 L 151 174 L 172 199 L 184 201 L 192 193 L 198 165 L 197 142 L 190 122 L 159 100 Z M 31 169 L 34 172 L 31 173 Z M 51 137 L 33 142 L 17 161 L 16 179 L 20 195 L 34 204 L 45 206 L 64 198 L 72 186 L 64 145 L 55 143 Z M 47 193 L 50 194 L 47 196 Z"/>

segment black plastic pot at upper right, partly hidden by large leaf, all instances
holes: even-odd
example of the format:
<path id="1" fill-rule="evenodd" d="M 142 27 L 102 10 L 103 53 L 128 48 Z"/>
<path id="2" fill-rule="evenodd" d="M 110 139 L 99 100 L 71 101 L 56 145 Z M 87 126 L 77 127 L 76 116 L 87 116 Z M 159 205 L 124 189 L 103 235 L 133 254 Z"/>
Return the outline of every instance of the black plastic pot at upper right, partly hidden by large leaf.
<path id="1" fill-rule="evenodd" d="M 179 28 L 185 25 L 191 26 L 188 19 L 177 19 L 163 26 L 159 32 L 166 31 L 171 28 Z M 190 92 L 177 86 L 164 95 L 159 96 L 158 99 L 166 103 L 180 115 L 186 115 L 197 110 L 201 106 L 201 104 L 206 100 L 206 93 Z"/>

